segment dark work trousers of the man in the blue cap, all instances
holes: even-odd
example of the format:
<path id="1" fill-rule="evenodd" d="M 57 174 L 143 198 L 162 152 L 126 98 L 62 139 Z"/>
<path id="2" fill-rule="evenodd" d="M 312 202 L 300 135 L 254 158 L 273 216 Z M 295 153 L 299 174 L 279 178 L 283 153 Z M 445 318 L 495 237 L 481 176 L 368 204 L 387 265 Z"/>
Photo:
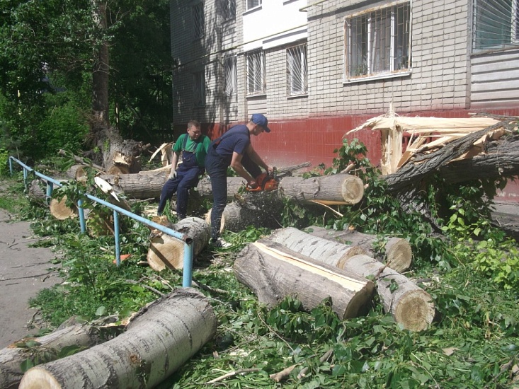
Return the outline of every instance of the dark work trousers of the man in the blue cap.
<path id="1" fill-rule="evenodd" d="M 261 174 L 261 168 L 254 163 L 247 154 L 241 158 L 241 164 L 249 174 L 256 178 Z M 220 156 L 214 147 L 210 146 L 205 157 L 205 170 L 211 179 L 212 210 L 211 210 L 211 238 L 219 236 L 222 214 L 227 204 L 227 168 L 231 166 L 231 157 Z"/>

